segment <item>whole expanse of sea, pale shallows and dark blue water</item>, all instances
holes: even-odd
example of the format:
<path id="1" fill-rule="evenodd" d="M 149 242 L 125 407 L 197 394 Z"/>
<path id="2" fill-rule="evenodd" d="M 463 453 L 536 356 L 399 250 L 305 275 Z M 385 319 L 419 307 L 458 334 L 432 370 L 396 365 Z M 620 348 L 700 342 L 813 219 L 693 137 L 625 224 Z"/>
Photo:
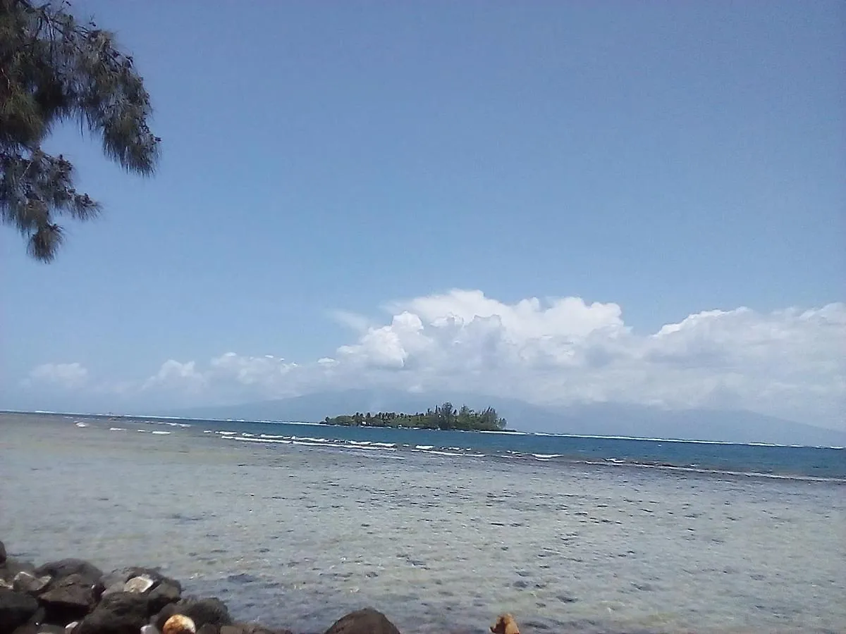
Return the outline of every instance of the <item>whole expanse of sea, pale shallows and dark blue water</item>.
<path id="1" fill-rule="evenodd" d="M 10 555 L 323 631 L 846 631 L 846 450 L 0 414 Z"/>

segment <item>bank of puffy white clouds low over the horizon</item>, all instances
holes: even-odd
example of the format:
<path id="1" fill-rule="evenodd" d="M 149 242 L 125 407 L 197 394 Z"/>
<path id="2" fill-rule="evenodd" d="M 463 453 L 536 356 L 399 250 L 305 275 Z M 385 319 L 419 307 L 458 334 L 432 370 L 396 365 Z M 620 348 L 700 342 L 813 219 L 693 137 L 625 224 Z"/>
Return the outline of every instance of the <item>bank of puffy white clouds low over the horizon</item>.
<path id="1" fill-rule="evenodd" d="M 736 408 L 846 429 L 844 303 L 766 314 L 708 310 L 646 334 L 625 325 L 618 304 L 572 297 L 509 304 L 478 290 L 453 290 L 388 303 L 382 314 L 374 322 L 334 313 L 353 341 L 311 362 L 238 353 L 205 363 L 168 359 L 119 390 L 93 381 L 79 363 L 47 363 L 27 380 L 173 404 L 389 387 L 553 407 Z"/>

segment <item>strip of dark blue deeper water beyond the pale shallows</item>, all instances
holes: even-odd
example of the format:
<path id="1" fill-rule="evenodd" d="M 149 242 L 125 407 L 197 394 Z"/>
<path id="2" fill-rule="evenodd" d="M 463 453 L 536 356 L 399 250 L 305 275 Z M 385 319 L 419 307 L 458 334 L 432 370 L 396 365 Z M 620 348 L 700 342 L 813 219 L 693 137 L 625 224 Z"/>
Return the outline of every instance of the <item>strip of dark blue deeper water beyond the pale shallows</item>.
<path id="1" fill-rule="evenodd" d="M 137 419 L 136 419 L 137 422 Z M 846 450 L 833 447 L 740 445 L 674 440 L 385 429 L 332 425 L 179 421 L 195 432 L 211 430 L 230 440 L 304 445 L 338 451 L 391 451 L 548 462 L 596 462 L 705 472 L 822 478 L 846 482 Z M 167 424 L 160 423 L 160 424 Z"/>

